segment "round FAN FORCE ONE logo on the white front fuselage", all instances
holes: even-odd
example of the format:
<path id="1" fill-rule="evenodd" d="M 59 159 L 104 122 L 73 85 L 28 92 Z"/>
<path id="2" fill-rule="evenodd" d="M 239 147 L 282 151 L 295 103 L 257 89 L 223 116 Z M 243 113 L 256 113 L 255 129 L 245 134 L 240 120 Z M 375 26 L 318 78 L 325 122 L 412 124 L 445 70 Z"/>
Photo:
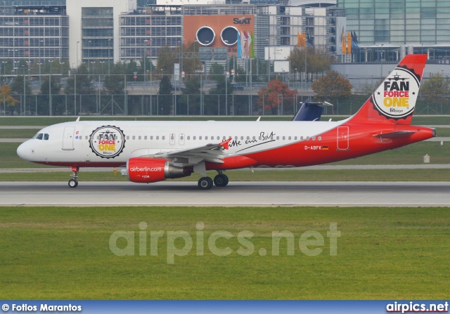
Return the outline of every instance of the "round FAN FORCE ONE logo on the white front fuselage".
<path id="1" fill-rule="evenodd" d="M 101 126 L 92 131 L 89 147 L 102 158 L 117 157 L 125 147 L 124 132 L 117 126 Z"/>

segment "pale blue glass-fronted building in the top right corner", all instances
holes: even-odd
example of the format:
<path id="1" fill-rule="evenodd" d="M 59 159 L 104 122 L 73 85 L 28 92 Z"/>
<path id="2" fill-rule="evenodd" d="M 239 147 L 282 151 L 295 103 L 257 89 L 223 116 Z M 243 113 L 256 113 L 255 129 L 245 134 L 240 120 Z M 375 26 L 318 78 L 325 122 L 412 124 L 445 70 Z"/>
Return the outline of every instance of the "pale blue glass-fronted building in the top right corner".
<path id="1" fill-rule="evenodd" d="M 338 0 L 363 46 L 450 43 L 448 0 Z"/>

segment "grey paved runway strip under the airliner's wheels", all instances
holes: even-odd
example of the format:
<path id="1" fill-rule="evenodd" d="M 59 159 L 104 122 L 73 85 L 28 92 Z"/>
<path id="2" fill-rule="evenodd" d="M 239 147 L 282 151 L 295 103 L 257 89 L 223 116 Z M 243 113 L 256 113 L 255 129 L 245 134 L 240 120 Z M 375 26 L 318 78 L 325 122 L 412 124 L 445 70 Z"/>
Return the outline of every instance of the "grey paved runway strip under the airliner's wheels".
<path id="1" fill-rule="evenodd" d="M 449 207 L 450 182 L 1 182 L 1 206 Z"/>

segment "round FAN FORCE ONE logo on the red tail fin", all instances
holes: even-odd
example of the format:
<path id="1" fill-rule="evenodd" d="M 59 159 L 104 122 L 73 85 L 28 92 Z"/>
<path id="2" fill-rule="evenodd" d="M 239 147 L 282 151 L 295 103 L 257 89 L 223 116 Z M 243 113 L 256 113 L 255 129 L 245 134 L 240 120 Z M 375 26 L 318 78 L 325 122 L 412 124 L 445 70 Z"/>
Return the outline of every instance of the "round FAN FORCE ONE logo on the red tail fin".
<path id="1" fill-rule="evenodd" d="M 416 75 L 408 69 L 397 67 L 373 93 L 373 103 L 385 117 L 407 117 L 416 106 L 419 86 Z"/>

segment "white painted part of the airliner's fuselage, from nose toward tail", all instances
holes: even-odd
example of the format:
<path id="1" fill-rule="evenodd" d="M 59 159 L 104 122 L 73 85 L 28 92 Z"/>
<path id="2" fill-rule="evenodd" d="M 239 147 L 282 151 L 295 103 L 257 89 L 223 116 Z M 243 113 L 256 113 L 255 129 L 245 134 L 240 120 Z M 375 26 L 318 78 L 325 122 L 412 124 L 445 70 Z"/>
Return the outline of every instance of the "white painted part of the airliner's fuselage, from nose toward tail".
<path id="1" fill-rule="evenodd" d="M 229 155 L 248 155 L 309 141 L 321 145 L 321 134 L 340 122 L 66 122 L 48 126 L 42 139 L 27 140 L 18 155 L 30 162 L 125 164 L 131 157 L 186 150 L 232 138 Z"/>

